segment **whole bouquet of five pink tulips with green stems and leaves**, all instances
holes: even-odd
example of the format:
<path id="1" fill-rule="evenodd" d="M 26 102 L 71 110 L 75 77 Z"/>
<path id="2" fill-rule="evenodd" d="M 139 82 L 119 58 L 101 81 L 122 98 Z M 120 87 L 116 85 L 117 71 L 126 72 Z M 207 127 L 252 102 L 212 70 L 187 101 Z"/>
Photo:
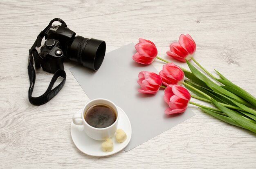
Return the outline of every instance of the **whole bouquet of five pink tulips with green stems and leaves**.
<path id="1" fill-rule="evenodd" d="M 179 42 L 170 44 L 170 51 L 166 53 L 171 58 L 186 62 L 190 71 L 159 58 L 157 47 L 150 40 L 139 38 L 135 49 L 137 53 L 132 59 L 138 63 L 151 64 L 156 58 L 166 62 L 159 74 L 141 71 L 138 80 L 140 93 L 155 94 L 160 88 L 164 88 L 164 101 L 168 104 L 166 114 L 183 113 L 190 103 L 224 122 L 256 133 L 256 98 L 218 71 L 215 70 L 218 75 L 216 77 L 204 69 L 193 58 L 196 44 L 189 34 L 182 34 Z M 189 60 L 193 60 L 212 80 L 196 69 Z M 190 94 L 187 89 L 194 94 Z M 209 102 L 215 108 L 191 102 L 191 97 Z"/>

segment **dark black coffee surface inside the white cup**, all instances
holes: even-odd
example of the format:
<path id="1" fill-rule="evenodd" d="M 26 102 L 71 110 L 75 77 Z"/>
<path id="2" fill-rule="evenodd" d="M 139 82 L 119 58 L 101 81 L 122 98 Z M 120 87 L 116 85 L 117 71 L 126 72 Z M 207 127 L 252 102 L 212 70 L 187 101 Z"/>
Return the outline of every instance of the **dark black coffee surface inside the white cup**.
<path id="1" fill-rule="evenodd" d="M 85 121 L 95 128 L 106 128 L 117 120 L 117 113 L 108 105 L 98 104 L 88 108 Z"/>

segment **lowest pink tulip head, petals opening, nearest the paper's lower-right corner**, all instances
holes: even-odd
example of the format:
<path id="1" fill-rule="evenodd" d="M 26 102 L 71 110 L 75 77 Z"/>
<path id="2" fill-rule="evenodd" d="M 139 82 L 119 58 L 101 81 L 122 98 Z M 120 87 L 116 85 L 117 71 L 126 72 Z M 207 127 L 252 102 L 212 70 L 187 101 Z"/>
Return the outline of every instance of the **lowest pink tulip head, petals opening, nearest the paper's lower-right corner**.
<path id="1" fill-rule="evenodd" d="M 168 85 L 164 89 L 164 101 L 169 105 L 166 114 L 183 113 L 186 111 L 191 96 L 187 89 L 179 85 Z"/>

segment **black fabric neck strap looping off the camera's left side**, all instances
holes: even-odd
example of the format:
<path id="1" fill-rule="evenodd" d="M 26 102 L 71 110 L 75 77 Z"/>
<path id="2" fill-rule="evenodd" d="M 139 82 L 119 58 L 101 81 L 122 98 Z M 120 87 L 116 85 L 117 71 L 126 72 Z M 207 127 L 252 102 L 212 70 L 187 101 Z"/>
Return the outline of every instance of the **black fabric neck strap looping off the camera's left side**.
<path id="1" fill-rule="evenodd" d="M 61 26 L 67 27 L 67 24 L 63 20 L 61 20 L 59 18 L 53 19 L 51 22 L 49 22 L 48 26 L 43 31 L 41 31 L 39 33 L 33 46 L 31 47 L 31 49 L 29 49 L 29 60 L 28 60 L 28 66 L 27 66 L 28 74 L 29 74 L 29 82 L 30 82 L 29 102 L 31 102 L 31 104 L 33 104 L 33 105 L 43 105 L 43 104 L 47 103 L 49 100 L 51 100 L 52 98 L 54 98 L 54 96 L 56 96 L 56 94 L 64 86 L 65 81 L 66 81 L 65 71 L 62 69 L 59 69 L 54 73 L 54 76 L 52 77 L 49 87 L 47 88 L 45 93 L 43 93 L 41 96 L 38 96 L 38 97 L 32 97 L 32 93 L 33 93 L 33 89 L 34 89 L 34 85 L 35 85 L 35 81 L 36 81 L 36 72 L 34 69 L 34 61 L 35 61 L 36 68 L 39 68 L 40 62 L 43 60 L 43 58 L 42 58 L 43 56 L 38 56 L 36 47 L 41 46 L 41 42 L 42 42 L 42 39 L 45 37 L 45 33 L 47 32 L 48 29 L 50 29 L 50 27 L 52 26 L 52 23 L 55 21 L 60 22 Z M 60 82 L 60 84 L 58 86 L 56 86 L 54 89 L 52 89 L 52 87 L 53 87 L 54 83 L 56 82 L 56 80 L 58 79 L 58 77 L 62 77 L 63 80 Z"/>

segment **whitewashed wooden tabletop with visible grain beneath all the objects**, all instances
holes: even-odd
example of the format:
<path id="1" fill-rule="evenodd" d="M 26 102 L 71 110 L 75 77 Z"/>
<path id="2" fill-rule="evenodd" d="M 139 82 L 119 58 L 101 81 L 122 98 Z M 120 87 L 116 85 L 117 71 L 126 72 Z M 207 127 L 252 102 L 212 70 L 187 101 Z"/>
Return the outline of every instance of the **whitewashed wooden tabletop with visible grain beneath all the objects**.
<path id="1" fill-rule="evenodd" d="M 89 99 L 68 70 L 74 63 L 65 63 L 66 84 L 47 104 L 31 105 L 27 92 L 28 50 L 50 20 L 61 18 L 77 35 L 105 40 L 107 52 L 146 38 L 168 60 L 168 45 L 189 33 L 198 62 L 256 96 L 255 0 L 1 0 L 0 9 L 0 168 L 256 167 L 254 133 L 193 105 L 196 116 L 127 153 L 106 158 L 81 153 L 70 123 Z M 153 65 L 160 71 L 163 63 Z M 51 78 L 37 71 L 33 96 L 40 96 Z"/>

